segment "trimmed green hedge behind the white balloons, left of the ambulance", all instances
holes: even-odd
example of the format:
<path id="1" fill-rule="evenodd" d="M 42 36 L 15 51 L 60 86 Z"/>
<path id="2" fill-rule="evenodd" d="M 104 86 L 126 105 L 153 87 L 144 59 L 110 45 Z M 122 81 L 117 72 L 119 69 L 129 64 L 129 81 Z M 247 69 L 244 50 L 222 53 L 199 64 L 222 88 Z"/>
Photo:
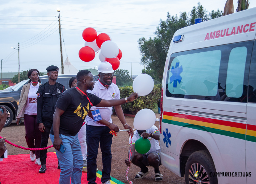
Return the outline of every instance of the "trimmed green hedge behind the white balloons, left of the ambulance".
<path id="1" fill-rule="evenodd" d="M 129 97 L 133 92 L 132 86 L 119 87 L 120 98 Z M 161 96 L 161 84 L 155 85 L 152 92 L 146 96 L 138 97 L 137 100 L 122 105 L 124 113 L 135 115 L 141 109 L 154 109 Z"/>

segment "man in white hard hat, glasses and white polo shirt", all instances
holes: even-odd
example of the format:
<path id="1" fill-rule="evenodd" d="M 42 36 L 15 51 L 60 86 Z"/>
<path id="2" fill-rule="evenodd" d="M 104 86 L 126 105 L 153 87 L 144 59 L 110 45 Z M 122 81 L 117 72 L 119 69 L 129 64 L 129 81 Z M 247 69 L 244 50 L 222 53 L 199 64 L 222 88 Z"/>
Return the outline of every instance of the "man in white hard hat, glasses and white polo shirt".
<path id="1" fill-rule="evenodd" d="M 92 91 L 87 92 L 96 95 L 105 100 L 120 99 L 120 91 L 116 84 L 112 83 L 114 70 L 112 65 L 108 62 L 101 62 L 98 67 L 99 80 L 95 83 Z M 128 101 L 126 101 L 128 102 Z M 126 123 L 125 116 L 121 105 L 115 106 L 116 115 L 124 126 L 124 129 L 130 130 L 132 128 Z M 102 120 L 95 122 L 92 118 L 91 111 L 99 109 Z M 102 184 L 110 184 L 111 172 L 111 144 L 113 135 L 109 132 L 111 130 L 119 131 L 118 126 L 112 123 L 111 119 L 112 107 L 95 107 L 91 108 L 86 117 L 86 131 L 87 131 L 87 181 L 88 184 L 96 184 L 96 158 L 101 144 L 102 153 Z"/>

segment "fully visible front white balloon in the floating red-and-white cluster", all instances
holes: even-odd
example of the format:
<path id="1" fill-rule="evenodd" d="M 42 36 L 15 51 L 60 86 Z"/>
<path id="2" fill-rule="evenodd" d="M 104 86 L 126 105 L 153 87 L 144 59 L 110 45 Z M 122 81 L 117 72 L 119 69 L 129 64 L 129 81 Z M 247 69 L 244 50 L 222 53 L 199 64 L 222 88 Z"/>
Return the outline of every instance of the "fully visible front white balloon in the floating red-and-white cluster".
<path id="1" fill-rule="evenodd" d="M 119 53 L 119 49 L 115 42 L 107 40 L 101 45 L 101 53 L 106 58 L 115 58 Z"/>

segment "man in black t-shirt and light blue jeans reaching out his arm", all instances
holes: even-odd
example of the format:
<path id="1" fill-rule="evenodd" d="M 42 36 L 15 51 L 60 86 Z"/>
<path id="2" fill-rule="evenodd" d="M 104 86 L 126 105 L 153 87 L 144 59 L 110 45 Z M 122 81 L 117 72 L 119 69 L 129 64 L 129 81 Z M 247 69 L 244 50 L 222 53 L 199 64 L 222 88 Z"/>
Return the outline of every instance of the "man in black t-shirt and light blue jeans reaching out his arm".
<path id="1" fill-rule="evenodd" d="M 88 89 L 92 90 L 95 83 L 90 71 L 79 71 L 76 79 L 77 86 L 63 92 L 56 103 L 50 132 L 61 167 L 59 180 L 61 184 L 70 184 L 70 178 L 72 184 L 81 183 L 83 158 L 78 132 L 91 106 L 118 106 L 138 97 L 136 93 L 132 93 L 123 99 L 104 100 L 86 92 Z M 59 151 L 61 144 L 66 147 L 64 153 Z"/>

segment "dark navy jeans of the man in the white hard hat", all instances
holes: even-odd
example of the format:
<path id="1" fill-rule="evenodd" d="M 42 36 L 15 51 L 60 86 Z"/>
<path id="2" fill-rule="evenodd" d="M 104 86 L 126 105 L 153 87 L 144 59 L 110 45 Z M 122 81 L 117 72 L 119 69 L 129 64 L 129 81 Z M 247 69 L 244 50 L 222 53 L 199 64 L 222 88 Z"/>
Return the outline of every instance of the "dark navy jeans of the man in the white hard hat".
<path id="1" fill-rule="evenodd" d="M 107 126 L 86 125 L 87 131 L 87 181 L 88 184 L 96 184 L 96 159 L 98 155 L 99 143 L 101 143 L 102 153 L 102 174 L 101 182 L 105 183 L 111 179 L 111 144 L 113 135 Z"/>

